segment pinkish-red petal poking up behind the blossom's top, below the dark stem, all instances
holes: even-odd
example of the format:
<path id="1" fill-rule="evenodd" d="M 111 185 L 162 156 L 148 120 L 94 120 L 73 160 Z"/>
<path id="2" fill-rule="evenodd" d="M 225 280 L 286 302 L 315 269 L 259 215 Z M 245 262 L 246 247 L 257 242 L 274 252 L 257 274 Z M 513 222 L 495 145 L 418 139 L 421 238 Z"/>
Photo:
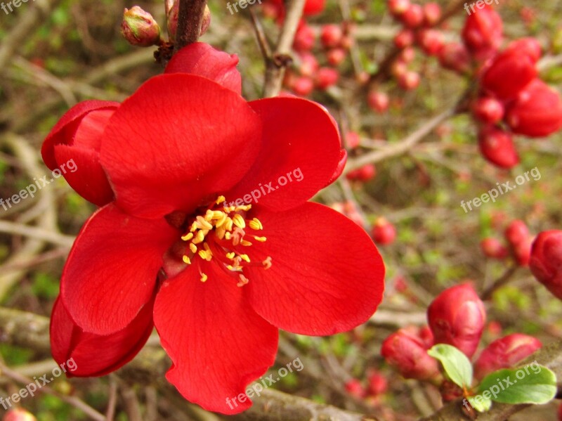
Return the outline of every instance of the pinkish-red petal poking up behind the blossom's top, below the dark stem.
<path id="1" fill-rule="evenodd" d="M 238 61 L 236 54 L 218 51 L 204 42 L 194 42 L 174 54 L 164 73 L 191 73 L 207 77 L 240 95 L 242 77 L 236 68 Z"/>

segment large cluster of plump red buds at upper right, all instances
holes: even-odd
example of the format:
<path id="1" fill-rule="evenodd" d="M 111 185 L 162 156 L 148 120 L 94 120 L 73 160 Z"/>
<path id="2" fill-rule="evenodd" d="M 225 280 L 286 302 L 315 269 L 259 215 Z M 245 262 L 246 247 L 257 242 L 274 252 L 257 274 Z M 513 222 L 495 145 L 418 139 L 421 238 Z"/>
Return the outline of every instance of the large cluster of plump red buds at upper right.
<path id="1" fill-rule="evenodd" d="M 458 57 L 447 63 L 457 71 L 476 69 L 480 90 L 471 108 L 479 125 L 478 146 L 488 162 L 509 169 L 519 163 L 514 134 L 540 138 L 561 129 L 562 100 L 538 77 L 539 42 L 516 39 L 500 51 L 502 38 L 502 18 L 485 5 L 466 19 L 464 44 L 455 46 Z"/>

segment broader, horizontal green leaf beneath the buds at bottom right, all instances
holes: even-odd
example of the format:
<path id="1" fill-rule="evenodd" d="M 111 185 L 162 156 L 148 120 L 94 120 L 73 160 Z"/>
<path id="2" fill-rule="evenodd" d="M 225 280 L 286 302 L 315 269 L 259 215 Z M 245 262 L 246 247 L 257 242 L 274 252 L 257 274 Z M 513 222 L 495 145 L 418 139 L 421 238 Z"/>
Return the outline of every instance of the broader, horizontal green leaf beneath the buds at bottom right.
<path id="1" fill-rule="evenodd" d="M 535 362 L 504 368 L 484 377 L 478 394 L 501 403 L 547 403 L 556 396 L 556 375 Z"/>

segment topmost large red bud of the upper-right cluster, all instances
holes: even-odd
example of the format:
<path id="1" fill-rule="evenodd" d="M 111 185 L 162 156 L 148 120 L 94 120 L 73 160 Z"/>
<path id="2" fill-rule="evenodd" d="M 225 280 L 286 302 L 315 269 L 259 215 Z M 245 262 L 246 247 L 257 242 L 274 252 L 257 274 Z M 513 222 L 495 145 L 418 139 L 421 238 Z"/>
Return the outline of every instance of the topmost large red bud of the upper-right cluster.
<path id="1" fill-rule="evenodd" d="M 471 13 L 462 29 L 464 44 L 472 52 L 497 51 L 502 37 L 502 18 L 488 5 Z"/>

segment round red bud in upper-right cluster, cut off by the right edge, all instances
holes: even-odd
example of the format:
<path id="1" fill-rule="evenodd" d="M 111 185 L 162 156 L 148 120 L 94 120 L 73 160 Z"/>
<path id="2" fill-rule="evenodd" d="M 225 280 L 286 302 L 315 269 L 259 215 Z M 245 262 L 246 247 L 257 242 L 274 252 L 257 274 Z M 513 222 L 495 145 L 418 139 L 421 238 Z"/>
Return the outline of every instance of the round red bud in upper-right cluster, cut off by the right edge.
<path id="1" fill-rule="evenodd" d="M 507 124 L 517 134 L 549 136 L 562 127 L 562 101 L 558 92 L 542 80 L 525 86 L 507 110 Z"/>

